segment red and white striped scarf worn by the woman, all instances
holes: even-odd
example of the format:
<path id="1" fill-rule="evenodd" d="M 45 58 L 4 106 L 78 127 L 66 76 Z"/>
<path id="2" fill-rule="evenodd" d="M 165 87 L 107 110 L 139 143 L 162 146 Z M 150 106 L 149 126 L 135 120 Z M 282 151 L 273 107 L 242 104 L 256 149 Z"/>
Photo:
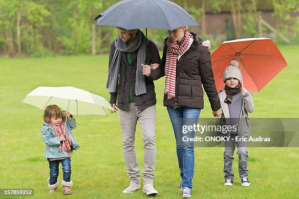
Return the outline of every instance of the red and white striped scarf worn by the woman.
<path id="1" fill-rule="evenodd" d="M 167 39 L 167 54 L 165 63 L 165 89 L 164 93 L 167 94 L 167 99 L 175 97 L 175 78 L 176 78 L 176 61 L 177 56 L 183 54 L 188 48 L 190 40 L 193 36 L 189 32 L 185 32 L 181 44 L 172 42 L 171 38 Z"/>

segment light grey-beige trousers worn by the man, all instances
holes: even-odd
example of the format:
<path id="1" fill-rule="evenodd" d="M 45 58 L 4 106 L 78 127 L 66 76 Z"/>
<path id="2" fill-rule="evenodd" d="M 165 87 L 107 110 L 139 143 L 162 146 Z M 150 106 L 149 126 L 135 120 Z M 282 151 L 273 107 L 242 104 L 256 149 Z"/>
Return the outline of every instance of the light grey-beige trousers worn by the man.
<path id="1" fill-rule="evenodd" d="M 143 184 L 152 184 L 156 166 L 155 122 L 156 106 L 139 111 L 135 103 L 129 103 L 128 111 L 119 110 L 120 124 L 123 134 L 123 153 L 125 166 L 131 182 L 140 184 L 134 141 L 137 120 L 141 128 L 144 145 Z"/>

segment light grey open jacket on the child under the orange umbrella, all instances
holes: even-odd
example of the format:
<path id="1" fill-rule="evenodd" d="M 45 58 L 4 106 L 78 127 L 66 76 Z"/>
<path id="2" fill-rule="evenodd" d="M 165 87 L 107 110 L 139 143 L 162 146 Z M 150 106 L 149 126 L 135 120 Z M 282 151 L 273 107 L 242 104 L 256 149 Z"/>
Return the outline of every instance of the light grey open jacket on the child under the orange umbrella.
<path id="1" fill-rule="evenodd" d="M 253 112 L 255 109 L 255 105 L 253 103 L 253 97 L 252 94 L 244 88 L 243 92 L 243 102 L 242 102 L 242 109 L 240 114 L 240 120 L 238 124 L 238 136 L 248 136 L 251 133 L 251 124 L 250 124 L 250 118 L 248 116 L 248 112 Z M 220 90 L 219 92 L 219 99 L 221 103 L 221 120 L 220 125 L 226 123 L 226 125 L 229 125 L 229 118 L 230 118 L 230 112 L 228 108 L 228 104 L 224 102 L 224 99 L 226 98 L 226 92 L 224 88 Z M 230 133 L 228 133 L 228 136 L 230 136 Z"/>

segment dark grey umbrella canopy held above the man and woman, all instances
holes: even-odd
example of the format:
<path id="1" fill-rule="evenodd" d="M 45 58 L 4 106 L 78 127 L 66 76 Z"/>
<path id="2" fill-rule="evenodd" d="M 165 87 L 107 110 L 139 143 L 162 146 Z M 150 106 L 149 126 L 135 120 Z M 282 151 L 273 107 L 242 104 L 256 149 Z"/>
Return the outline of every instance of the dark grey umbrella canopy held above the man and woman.
<path id="1" fill-rule="evenodd" d="M 122 0 L 95 18 L 97 25 L 112 25 L 127 30 L 178 27 L 199 24 L 179 5 L 169 0 Z"/>

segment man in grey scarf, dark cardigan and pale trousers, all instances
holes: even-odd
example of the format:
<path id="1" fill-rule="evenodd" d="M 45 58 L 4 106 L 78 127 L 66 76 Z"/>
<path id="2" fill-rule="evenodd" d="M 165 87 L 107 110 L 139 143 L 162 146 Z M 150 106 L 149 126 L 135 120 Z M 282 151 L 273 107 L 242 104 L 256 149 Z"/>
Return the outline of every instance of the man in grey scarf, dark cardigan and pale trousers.
<path id="1" fill-rule="evenodd" d="M 117 27 L 119 36 L 111 44 L 107 88 L 110 104 L 119 109 L 123 135 L 123 153 L 129 186 L 123 191 L 128 194 L 140 189 L 140 176 L 134 149 L 137 120 L 144 143 L 143 192 L 149 196 L 158 192 L 153 188 L 156 163 L 155 118 L 156 94 L 153 80 L 161 75 L 149 65 L 161 62 L 157 46 L 139 29 L 126 30 Z M 147 57 L 146 57 L 147 48 Z M 116 105 L 117 101 L 117 105 Z"/>

